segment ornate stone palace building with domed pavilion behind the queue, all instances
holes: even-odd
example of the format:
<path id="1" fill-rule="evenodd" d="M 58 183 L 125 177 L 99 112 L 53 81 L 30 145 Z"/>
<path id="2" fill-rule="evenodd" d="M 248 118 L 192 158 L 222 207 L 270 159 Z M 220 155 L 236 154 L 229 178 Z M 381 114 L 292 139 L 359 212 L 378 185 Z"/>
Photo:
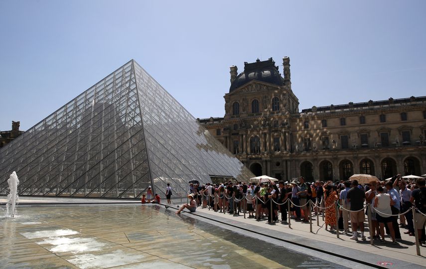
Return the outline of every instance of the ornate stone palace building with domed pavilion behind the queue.
<path id="1" fill-rule="evenodd" d="M 299 111 L 272 58 L 230 67 L 225 116 L 200 123 L 256 174 L 289 180 L 386 179 L 426 173 L 426 97 L 312 107 Z"/>

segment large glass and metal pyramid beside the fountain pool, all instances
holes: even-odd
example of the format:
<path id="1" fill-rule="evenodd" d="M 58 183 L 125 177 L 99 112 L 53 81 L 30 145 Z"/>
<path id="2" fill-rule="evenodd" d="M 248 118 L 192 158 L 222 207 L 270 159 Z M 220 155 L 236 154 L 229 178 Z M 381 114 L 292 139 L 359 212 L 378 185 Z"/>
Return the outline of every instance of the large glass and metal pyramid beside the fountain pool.
<path id="1" fill-rule="evenodd" d="M 0 194 L 139 198 L 254 175 L 131 60 L 0 149 Z"/>

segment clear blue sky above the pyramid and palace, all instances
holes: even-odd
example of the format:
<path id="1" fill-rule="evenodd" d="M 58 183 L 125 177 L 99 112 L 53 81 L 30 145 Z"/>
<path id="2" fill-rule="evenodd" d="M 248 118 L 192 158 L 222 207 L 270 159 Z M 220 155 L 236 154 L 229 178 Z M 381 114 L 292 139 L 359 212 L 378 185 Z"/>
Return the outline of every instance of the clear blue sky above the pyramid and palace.
<path id="1" fill-rule="evenodd" d="M 0 130 L 29 129 L 132 58 L 196 118 L 223 117 L 229 66 L 258 57 L 290 57 L 300 110 L 425 96 L 425 11 L 425 0 L 0 0 Z"/>

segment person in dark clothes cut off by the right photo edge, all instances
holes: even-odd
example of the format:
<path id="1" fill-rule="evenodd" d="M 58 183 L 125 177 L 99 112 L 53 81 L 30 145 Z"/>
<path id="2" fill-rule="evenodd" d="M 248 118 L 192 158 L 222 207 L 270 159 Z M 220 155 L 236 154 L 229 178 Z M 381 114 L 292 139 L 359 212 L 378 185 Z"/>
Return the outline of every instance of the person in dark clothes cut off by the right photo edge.
<path id="1" fill-rule="evenodd" d="M 414 224 L 416 226 L 418 235 L 419 235 L 419 244 L 425 244 L 424 236 L 425 234 L 424 229 L 426 225 L 426 187 L 425 187 L 425 179 L 419 178 L 417 180 L 417 189 L 413 190 L 411 193 L 410 201 L 413 203 L 416 207 L 416 213 L 415 213 L 415 220 L 416 223 Z M 422 214 L 423 213 L 423 214 Z"/>

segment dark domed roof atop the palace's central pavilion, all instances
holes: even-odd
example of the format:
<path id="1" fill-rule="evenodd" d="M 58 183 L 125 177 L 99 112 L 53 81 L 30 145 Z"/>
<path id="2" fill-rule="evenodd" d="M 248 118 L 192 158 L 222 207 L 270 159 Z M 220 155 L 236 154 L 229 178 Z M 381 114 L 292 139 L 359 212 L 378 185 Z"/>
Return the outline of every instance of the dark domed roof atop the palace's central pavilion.
<path id="1" fill-rule="evenodd" d="M 266 61 L 257 59 L 254 63 L 244 63 L 244 72 L 239 74 L 231 83 L 229 92 L 234 91 L 252 80 L 263 81 L 279 86 L 284 85 L 284 78 L 280 75 L 278 66 L 275 66 L 275 62 L 272 58 Z"/>

